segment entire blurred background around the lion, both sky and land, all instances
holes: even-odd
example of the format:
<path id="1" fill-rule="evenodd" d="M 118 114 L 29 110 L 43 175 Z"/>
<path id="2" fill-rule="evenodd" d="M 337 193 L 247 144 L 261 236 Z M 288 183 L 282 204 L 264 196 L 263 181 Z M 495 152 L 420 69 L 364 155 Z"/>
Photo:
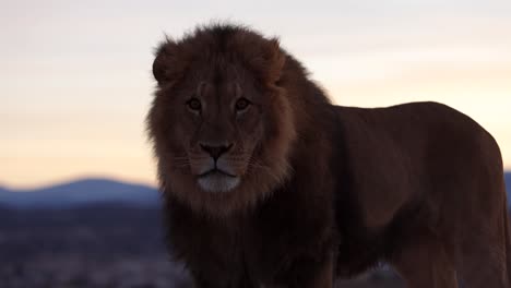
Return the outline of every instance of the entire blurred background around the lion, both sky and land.
<path id="1" fill-rule="evenodd" d="M 280 36 L 336 104 L 465 112 L 511 170 L 509 0 L 0 0 L 0 287 L 188 287 L 144 117 L 154 47 L 212 20 Z"/>

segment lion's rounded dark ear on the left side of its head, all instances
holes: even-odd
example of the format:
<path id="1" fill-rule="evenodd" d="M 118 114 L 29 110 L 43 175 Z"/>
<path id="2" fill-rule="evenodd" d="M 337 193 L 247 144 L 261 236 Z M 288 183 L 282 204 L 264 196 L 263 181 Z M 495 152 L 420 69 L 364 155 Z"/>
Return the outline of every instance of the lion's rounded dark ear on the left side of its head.
<path id="1" fill-rule="evenodd" d="M 167 37 L 156 49 L 153 62 L 153 75 L 159 85 L 178 80 L 182 72 L 178 60 L 178 47 L 176 43 Z"/>

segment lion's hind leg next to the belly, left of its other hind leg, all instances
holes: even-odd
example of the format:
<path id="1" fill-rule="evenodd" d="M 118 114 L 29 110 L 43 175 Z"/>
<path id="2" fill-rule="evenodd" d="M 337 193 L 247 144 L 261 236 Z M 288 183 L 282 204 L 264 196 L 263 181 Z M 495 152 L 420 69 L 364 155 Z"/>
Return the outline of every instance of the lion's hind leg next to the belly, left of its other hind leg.
<path id="1" fill-rule="evenodd" d="M 408 288 L 457 288 L 452 257 L 436 239 L 420 238 L 390 261 Z"/>

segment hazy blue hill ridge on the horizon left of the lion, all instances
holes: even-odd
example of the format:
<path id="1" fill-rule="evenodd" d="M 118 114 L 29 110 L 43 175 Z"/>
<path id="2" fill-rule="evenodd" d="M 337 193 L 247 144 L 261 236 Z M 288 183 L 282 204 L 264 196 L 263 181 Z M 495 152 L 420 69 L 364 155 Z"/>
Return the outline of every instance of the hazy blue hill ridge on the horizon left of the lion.
<path id="1" fill-rule="evenodd" d="M 159 203 L 159 194 L 147 185 L 109 179 L 83 179 L 35 190 L 0 188 L 0 206 L 15 208 L 59 208 L 111 202 L 155 206 Z"/>

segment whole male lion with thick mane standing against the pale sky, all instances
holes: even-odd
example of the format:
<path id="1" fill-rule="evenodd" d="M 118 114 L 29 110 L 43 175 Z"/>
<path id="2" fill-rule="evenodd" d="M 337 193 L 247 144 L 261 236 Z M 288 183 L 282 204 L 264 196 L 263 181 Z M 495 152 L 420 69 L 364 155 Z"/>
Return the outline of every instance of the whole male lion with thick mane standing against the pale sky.
<path id="1" fill-rule="evenodd" d="M 334 106 L 230 24 L 166 39 L 153 73 L 168 241 L 198 287 L 333 287 L 380 262 L 408 287 L 509 287 L 501 155 L 467 116 Z"/>

